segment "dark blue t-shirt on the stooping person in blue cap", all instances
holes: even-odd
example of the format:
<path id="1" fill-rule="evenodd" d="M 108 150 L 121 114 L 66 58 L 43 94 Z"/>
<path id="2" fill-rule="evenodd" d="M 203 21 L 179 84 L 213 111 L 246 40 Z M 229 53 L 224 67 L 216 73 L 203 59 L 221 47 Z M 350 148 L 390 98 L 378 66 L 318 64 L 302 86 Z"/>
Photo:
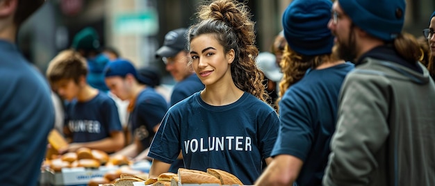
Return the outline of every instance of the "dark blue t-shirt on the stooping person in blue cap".
<path id="1" fill-rule="evenodd" d="M 147 149 L 151 144 L 155 135 L 154 127 L 160 124 L 166 111 L 165 98 L 153 88 L 147 87 L 138 94 L 129 121 L 132 133 L 138 137 L 144 149 Z"/>

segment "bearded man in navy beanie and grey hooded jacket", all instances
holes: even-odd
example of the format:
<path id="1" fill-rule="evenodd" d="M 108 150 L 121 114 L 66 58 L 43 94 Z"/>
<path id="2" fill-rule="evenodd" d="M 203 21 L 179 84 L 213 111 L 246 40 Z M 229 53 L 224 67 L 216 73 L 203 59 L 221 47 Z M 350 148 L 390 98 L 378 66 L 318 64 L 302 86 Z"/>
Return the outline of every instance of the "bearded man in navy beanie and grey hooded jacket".
<path id="1" fill-rule="evenodd" d="M 338 0 L 329 29 L 354 60 L 324 185 L 435 185 L 435 84 L 402 33 L 404 0 Z"/>

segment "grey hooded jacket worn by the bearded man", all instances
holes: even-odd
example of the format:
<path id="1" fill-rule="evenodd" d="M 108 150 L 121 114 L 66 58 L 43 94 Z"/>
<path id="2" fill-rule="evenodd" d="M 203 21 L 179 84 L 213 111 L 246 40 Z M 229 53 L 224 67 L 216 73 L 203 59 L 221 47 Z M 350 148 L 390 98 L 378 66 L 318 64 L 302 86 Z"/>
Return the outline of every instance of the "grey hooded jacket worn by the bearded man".
<path id="1" fill-rule="evenodd" d="M 366 58 L 347 75 L 324 185 L 435 185 L 435 84 Z"/>

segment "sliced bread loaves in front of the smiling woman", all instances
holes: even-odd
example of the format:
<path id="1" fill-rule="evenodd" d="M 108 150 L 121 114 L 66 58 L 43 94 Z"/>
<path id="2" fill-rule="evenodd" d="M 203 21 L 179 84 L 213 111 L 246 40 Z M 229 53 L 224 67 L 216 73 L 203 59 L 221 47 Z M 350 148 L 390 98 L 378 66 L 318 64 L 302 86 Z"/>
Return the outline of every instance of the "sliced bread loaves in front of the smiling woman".
<path id="1" fill-rule="evenodd" d="M 192 169 L 179 169 L 178 174 L 163 173 L 159 175 L 158 178 L 148 178 L 145 180 L 145 185 L 153 186 L 177 186 L 178 183 L 243 185 L 243 183 L 236 176 L 220 169 L 207 169 L 206 172 Z"/>

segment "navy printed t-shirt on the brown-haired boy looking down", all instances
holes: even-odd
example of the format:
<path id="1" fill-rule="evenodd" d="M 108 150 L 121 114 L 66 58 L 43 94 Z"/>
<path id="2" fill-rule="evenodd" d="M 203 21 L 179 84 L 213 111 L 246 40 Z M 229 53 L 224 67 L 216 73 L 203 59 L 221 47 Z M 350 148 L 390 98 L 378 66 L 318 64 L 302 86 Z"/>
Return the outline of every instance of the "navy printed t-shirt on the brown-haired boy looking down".
<path id="1" fill-rule="evenodd" d="M 65 113 L 65 125 L 72 133 L 72 142 L 93 142 L 122 131 L 115 101 L 98 92 L 90 101 L 72 101 Z"/>

